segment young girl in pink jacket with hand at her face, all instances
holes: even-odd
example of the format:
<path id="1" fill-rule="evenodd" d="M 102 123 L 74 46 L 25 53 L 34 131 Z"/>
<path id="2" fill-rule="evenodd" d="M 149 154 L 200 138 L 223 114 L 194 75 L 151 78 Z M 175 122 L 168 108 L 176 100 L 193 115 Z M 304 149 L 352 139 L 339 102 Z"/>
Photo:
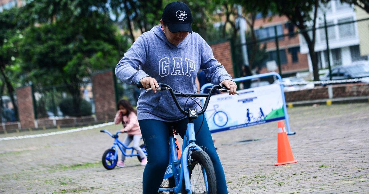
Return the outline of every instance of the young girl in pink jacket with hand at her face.
<path id="1" fill-rule="evenodd" d="M 118 112 L 114 118 L 115 125 L 118 125 L 120 122 L 122 122 L 124 127 L 120 130 L 120 132 L 127 132 L 127 136 L 125 137 L 123 144 L 125 146 L 128 146 L 133 141 L 133 148 L 137 151 L 142 159 L 141 165 L 145 166 L 147 163 L 147 158 L 145 153 L 139 147 L 139 141 L 141 140 L 142 135 L 138 125 L 137 116 L 134 113 L 133 107 L 131 106 L 130 102 L 124 99 L 118 102 Z M 123 151 L 125 152 L 124 147 Z M 124 160 L 125 156 L 124 154 L 122 154 L 122 159 L 121 161 L 118 161 L 117 166 L 123 168 Z"/>

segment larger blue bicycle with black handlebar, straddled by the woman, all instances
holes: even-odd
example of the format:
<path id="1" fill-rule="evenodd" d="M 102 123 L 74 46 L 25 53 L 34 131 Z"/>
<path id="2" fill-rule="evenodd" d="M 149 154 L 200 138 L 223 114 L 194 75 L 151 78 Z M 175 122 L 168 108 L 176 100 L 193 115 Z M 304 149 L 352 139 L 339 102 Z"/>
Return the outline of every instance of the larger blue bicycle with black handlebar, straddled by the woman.
<path id="1" fill-rule="evenodd" d="M 141 84 L 138 84 L 142 88 Z M 146 89 L 146 92 L 152 89 Z M 187 130 L 183 138 L 182 154 L 178 158 L 173 129 L 168 132 L 169 136 L 169 165 L 166 169 L 164 180 L 158 193 L 188 193 L 188 194 L 216 194 L 216 178 L 213 163 L 203 148 L 196 145 L 193 119 L 203 114 L 208 106 L 210 96 L 214 90 L 230 92 L 223 85 L 214 85 L 209 93 L 180 93 L 169 85 L 159 83 L 157 91 L 169 90 L 177 108 L 187 116 Z M 239 93 L 237 93 L 239 94 Z M 184 110 L 177 97 L 203 97 L 206 98 L 203 109 L 188 108 Z"/>

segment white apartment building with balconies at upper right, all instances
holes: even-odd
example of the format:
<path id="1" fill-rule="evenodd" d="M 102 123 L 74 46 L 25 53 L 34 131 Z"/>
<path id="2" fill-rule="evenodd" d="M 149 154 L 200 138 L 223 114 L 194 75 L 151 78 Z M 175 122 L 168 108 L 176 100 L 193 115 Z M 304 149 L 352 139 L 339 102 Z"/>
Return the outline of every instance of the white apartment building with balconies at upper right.
<path id="1" fill-rule="evenodd" d="M 356 11 L 362 10 L 361 8 L 356 8 Z M 318 67 L 320 69 L 328 68 L 328 59 L 330 60 L 332 66 L 352 65 L 356 62 L 368 63 L 369 53 L 367 52 L 364 54 L 361 52 L 361 50 L 363 50 L 365 47 L 360 43 L 369 41 L 368 34 L 365 35 L 365 32 L 368 33 L 368 30 L 364 30 L 359 37 L 358 25 L 362 25 L 362 22 L 354 22 L 358 20 L 356 11 L 354 6 L 341 3 L 339 0 L 332 0 L 327 4 L 327 6 L 318 10 L 316 27 L 323 27 L 317 29 L 315 34 L 315 52 L 318 57 Z M 327 28 L 330 49 L 329 57 L 325 38 L 324 13 L 326 15 L 325 18 L 327 25 L 333 25 Z M 361 13 L 361 18 L 365 17 L 363 15 L 365 14 Z M 369 18 L 368 14 L 366 14 L 366 16 L 366 18 Z M 350 21 L 352 21 L 352 23 L 350 23 Z M 345 24 L 337 25 L 340 23 Z M 368 25 L 366 25 L 366 27 L 367 26 Z M 310 35 L 311 34 L 312 33 L 310 33 Z M 301 54 L 308 55 L 309 50 L 305 39 L 301 35 L 299 35 L 299 39 Z M 308 67 L 309 71 L 312 72 L 313 68 L 310 57 L 308 57 Z"/>

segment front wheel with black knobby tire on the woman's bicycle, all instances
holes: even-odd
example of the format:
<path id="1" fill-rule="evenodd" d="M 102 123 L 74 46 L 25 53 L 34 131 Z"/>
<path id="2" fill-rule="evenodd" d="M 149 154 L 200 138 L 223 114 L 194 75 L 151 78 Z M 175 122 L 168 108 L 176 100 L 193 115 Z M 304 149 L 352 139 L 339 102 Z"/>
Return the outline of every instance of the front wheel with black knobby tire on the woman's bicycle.
<path id="1" fill-rule="evenodd" d="M 204 180 L 204 174 L 202 168 L 205 169 L 207 181 L 208 181 L 208 193 L 206 191 L 206 184 Z M 208 154 L 202 150 L 196 150 L 191 154 L 191 161 L 189 162 L 189 174 L 191 181 L 191 194 L 217 194 L 217 179 L 215 177 L 215 171 L 213 162 L 211 162 Z M 196 181 L 192 180 L 192 177 L 196 177 Z M 200 180 L 200 181 L 199 181 Z M 196 183 L 195 186 L 193 184 Z M 182 182 L 182 193 L 186 193 L 186 186 L 184 184 L 184 178 Z"/>

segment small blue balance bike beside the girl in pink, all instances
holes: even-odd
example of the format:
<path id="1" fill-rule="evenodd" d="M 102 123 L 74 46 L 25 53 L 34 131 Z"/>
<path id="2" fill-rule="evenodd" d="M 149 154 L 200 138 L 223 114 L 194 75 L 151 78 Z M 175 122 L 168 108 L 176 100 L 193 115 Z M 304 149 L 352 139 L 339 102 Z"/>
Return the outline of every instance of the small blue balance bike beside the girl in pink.
<path id="1" fill-rule="evenodd" d="M 138 160 L 141 162 L 141 157 L 139 156 L 138 153 L 134 154 L 135 149 L 133 147 L 127 147 L 125 146 L 119 139 L 118 139 L 118 133 L 121 133 L 120 130 L 117 131 L 117 133 L 115 133 L 115 135 L 112 135 L 109 131 L 107 130 L 100 130 L 100 132 L 103 133 L 107 133 L 108 135 L 110 135 L 111 137 L 114 138 L 114 144 L 113 146 L 111 146 L 110 149 L 107 149 L 102 157 L 102 162 L 103 162 L 103 166 L 105 169 L 107 170 L 112 170 L 115 168 L 115 166 L 117 165 L 118 162 L 118 149 L 124 154 L 124 156 L 128 156 L 128 157 L 133 157 L 133 156 L 137 156 Z M 131 154 L 126 154 L 123 150 L 123 147 L 125 150 L 132 150 Z M 145 149 L 145 145 L 141 144 L 139 147 L 141 147 L 141 149 L 144 151 L 144 153 L 146 154 L 146 149 Z"/>

